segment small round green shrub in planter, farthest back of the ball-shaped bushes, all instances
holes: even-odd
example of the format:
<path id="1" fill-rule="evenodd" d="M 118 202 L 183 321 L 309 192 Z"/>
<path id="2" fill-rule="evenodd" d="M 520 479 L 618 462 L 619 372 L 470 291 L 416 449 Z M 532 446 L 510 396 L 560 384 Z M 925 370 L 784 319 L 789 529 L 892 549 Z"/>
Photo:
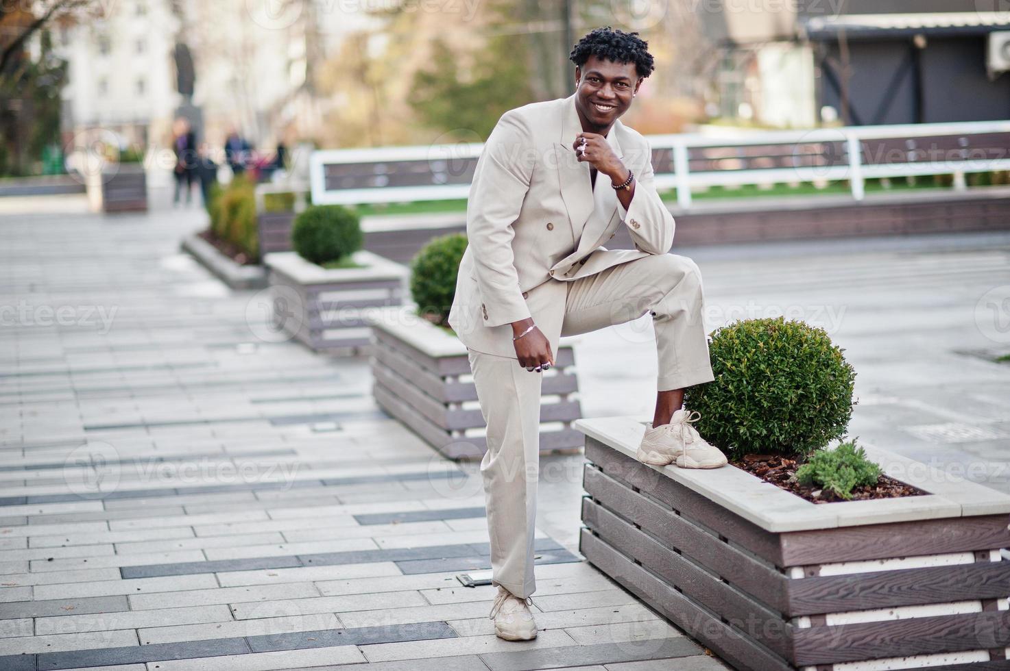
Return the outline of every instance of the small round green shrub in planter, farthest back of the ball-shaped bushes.
<path id="1" fill-rule="evenodd" d="M 338 261 L 362 248 L 358 215 L 340 205 L 313 205 L 295 217 L 291 243 L 313 263 Z"/>

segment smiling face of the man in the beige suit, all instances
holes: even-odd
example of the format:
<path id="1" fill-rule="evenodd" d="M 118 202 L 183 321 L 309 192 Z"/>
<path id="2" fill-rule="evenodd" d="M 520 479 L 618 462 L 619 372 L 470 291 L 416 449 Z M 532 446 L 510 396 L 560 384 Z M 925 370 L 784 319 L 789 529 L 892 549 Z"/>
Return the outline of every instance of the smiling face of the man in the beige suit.
<path id="1" fill-rule="evenodd" d="M 575 106 L 583 130 L 603 135 L 631 107 L 631 96 L 641 84 L 633 63 L 614 63 L 595 55 L 576 67 L 575 77 Z"/>

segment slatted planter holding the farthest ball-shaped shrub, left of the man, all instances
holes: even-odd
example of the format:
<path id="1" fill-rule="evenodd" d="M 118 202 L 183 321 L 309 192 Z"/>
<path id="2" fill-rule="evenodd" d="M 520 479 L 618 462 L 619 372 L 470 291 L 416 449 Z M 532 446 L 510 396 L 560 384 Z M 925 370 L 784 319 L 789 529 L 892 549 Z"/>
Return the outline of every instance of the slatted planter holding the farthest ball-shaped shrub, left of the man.
<path id="1" fill-rule="evenodd" d="M 316 351 L 367 351 L 371 329 L 365 315 L 400 305 L 409 270 L 364 250 L 354 260 L 365 267 L 327 269 L 293 251 L 266 254 L 275 323 Z"/>

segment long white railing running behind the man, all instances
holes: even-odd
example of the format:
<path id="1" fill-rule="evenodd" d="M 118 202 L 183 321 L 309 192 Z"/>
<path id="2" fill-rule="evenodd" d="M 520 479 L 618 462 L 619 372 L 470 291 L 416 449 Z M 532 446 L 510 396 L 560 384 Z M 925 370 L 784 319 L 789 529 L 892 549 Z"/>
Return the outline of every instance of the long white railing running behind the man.
<path id="1" fill-rule="evenodd" d="M 677 201 L 682 208 L 692 205 L 692 192 L 709 187 L 739 187 L 745 185 L 774 185 L 786 183 L 823 183 L 847 180 L 852 198 L 864 199 L 867 180 L 876 178 L 906 178 L 928 175 L 952 175 L 954 189 L 966 188 L 965 176 L 969 173 L 1010 171 L 1010 141 L 1000 146 L 972 146 L 971 137 L 985 134 L 1010 133 L 1010 121 L 973 121 L 960 123 L 931 123 L 887 126 L 847 126 L 797 131 L 730 131 L 716 129 L 705 133 L 648 135 L 652 150 L 669 149 L 672 170 L 655 166 L 655 186 L 661 191 L 676 189 Z M 956 138 L 960 149 L 945 149 L 933 159 L 913 160 L 914 152 L 928 151 L 928 147 L 908 149 L 908 160 L 864 163 L 863 147 L 868 140 L 891 139 L 914 143 L 917 138 Z M 832 144 L 845 147 L 844 161 L 828 164 L 799 164 L 785 167 L 692 171 L 691 149 L 747 146 L 816 146 Z M 439 184 L 439 176 L 446 176 L 449 161 L 465 163 L 480 155 L 482 144 L 433 144 L 427 146 L 381 147 L 375 149 L 330 149 L 312 153 L 310 176 L 312 202 L 317 204 L 395 203 L 409 201 L 434 201 L 466 198 L 469 184 Z M 803 154 L 809 158 L 811 154 Z M 778 158 L 782 158 L 780 153 Z M 423 186 L 386 186 L 383 182 L 385 164 L 395 162 L 427 163 L 433 184 Z M 368 175 L 374 187 L 364 189 L 327 190 L 325 166 L 333 164 L 371 163 Z"/>

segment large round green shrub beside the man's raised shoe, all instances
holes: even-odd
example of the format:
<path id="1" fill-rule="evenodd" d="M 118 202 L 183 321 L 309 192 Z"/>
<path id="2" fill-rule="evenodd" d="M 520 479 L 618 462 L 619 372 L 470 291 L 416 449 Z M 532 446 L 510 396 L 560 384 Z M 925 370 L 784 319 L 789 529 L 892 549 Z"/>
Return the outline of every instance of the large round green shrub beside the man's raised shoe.
<path id="1" fill-rule="evenodd" d="M 823 329 L 752 319 L 712 333 L 715 380 L 685 392 L 701 435 L 736 458 L 800 455 L 845 434 L 855 372 Z"/>

